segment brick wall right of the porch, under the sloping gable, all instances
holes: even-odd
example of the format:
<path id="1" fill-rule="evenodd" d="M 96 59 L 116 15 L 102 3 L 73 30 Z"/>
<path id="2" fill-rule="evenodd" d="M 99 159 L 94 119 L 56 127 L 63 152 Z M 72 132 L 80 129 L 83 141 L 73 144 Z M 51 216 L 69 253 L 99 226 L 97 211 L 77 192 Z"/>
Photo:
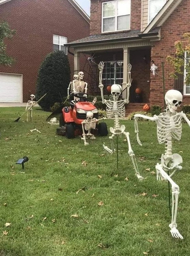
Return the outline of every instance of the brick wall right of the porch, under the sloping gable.
<path id="1" fill-rule="evenodd" d="M 161 41 L 153 42 L 151 58 L 158 66 L 158 75 L 153 77 L 151 74 L 150 84 L 150 103 L 164 105 L 163 100 L 163 79 L 162 62 L 164 62 L 165 90 L 174 88 L 174 79 L 169 74 L 173 68 L 166 62 L 167 55 L 174 56 L 174 42 L 184 41 L 183 33 L 190 32 L 190 0 L 183 0 L 178 8 L 170 15 L 161 28 Z M 185 96 L 183 104 L 190 104 L 190 97 Z"/>

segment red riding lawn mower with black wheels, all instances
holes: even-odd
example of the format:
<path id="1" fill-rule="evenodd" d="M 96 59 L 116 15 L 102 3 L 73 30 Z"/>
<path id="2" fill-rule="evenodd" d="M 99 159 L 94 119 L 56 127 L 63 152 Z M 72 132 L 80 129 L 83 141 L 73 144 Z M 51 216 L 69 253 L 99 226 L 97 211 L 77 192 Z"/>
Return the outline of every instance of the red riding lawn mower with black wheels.
<path id="1" fill-rule="evenodd" d="M 86 119 L 86 113 L 91 111 L 93 118 L 98 119 L 98 110 L 92 102 L 88 102 L 84 97 L 84 93 L 74 95 L 79 98 L 79 101 L 73 103 L 70 100 L 70 107 L 63 107 L 59 119 L 59 128 L 57 134 L 66 135 L 67 138 L 74 138 L 77 135 L 82 135 L 82 121 Z M 70 97 L 71 99 L 71 97 Z M 96 125 L 96 129 L 91 131 L 92 134 L 106 136 L 108 134 L 107 125 L 100 122 Z"/>

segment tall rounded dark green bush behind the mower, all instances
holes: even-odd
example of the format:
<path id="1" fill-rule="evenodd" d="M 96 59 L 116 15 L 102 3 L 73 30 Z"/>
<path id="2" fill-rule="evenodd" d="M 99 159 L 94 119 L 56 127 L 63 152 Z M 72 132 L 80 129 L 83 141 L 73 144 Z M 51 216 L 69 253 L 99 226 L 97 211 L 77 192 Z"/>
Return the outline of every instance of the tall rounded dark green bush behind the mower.
<path id="1" fill-rule="evenodd" d="M 40 65 L 37 77 L 37 99 L 47 95 L 39 102 L 43 110 L 49 110 L 55 102 L 61 102 L 60 95 L 67 96 L 70 83 L 69 60 L 63 51 L 49 53 Z"/>

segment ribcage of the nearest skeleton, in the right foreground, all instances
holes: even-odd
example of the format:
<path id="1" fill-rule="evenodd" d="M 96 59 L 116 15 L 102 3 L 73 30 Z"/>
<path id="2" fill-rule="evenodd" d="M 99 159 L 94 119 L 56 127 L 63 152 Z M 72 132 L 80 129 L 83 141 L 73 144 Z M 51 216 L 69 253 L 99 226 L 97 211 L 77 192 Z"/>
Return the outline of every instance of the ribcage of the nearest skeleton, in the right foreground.
<path id="1" fill-rule="evenodd" d="M 171 116 L 161 113 L 157 116 L 156 123 L 159 144 L 166 142 L 169 135 L 178 141 L 180 140 L 182 131 L 181 118 L 180 113 Z"/>

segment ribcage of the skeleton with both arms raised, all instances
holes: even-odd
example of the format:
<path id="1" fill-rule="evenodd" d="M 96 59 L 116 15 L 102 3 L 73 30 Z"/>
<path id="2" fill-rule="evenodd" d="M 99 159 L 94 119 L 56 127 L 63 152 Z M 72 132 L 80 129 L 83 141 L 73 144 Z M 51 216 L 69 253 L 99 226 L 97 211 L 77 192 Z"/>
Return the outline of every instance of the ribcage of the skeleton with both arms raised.
<path id="1" fill-rule="evenodd" d="M 110 101 L 105 100 L 106 103 L 106 113 L 108 118 L 113 118 L 114 114 L 118 114 L 120 117 L 125 117 L 125 103 L 124 101 Z"/>

